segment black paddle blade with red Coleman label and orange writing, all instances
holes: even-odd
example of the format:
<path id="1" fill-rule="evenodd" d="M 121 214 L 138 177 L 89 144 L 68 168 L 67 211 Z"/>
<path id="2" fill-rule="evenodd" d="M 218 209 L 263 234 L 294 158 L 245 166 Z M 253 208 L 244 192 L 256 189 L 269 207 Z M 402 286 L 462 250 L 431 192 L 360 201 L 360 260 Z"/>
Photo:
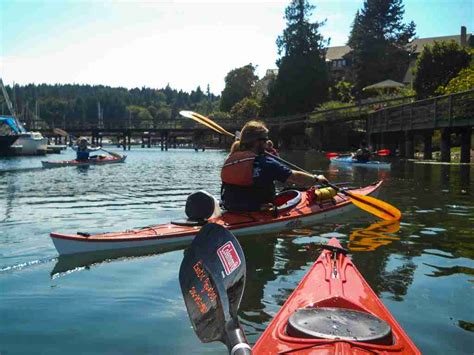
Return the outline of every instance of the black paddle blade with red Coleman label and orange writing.
<path id="1" fill-rule="evenodd" d="M 245 256 L 234 235 L 209 223 L 186 250 L 179 282 L 189 319 L 203 343 L 220 341 L 230 354 L 251 354 L 237 311 L 245 287 Z"/>

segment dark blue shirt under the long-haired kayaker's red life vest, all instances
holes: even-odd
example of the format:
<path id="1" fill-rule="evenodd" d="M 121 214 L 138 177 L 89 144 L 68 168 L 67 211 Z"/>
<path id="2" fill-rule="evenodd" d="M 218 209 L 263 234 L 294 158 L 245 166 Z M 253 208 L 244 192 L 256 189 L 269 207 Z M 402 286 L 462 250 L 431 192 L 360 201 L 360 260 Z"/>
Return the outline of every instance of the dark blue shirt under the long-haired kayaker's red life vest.
<path id="1" fill-rule="evenodd" d="M 291 169 L 266 155 L 253 163 L 253 186 L 223 184 L 222 201 L 228 210 L 258 211 L 262 204 L 273 203 L 275 181 L 285 182 Z"/>

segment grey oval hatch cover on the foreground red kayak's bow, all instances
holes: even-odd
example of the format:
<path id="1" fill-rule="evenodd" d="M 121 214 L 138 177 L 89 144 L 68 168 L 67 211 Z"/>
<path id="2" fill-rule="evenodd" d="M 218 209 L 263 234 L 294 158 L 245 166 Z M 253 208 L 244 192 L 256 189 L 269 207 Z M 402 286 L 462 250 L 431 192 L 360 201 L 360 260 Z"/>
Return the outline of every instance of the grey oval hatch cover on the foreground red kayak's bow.
<path id="1" fill-rule="evenodd" d="M 296 338 L 341 339 L 392 345 L 392 328 L 367 312 L 348 308 L 300 308 L 288 319 L 287 334 Z"/>

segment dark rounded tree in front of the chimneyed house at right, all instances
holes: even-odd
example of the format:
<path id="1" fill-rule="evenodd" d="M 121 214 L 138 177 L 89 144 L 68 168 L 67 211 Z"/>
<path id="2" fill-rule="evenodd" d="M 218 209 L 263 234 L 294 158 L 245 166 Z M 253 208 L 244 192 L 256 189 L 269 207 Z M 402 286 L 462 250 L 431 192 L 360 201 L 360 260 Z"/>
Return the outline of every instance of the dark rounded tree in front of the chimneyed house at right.
<path id="1" fill-rule="evenodd" d="M 416 61 L 413 88 L 418 98 L 436 94 L 463 69 L 469 66 L 471 54 L 454 41 L 435 42 L 425 46 Z"/>

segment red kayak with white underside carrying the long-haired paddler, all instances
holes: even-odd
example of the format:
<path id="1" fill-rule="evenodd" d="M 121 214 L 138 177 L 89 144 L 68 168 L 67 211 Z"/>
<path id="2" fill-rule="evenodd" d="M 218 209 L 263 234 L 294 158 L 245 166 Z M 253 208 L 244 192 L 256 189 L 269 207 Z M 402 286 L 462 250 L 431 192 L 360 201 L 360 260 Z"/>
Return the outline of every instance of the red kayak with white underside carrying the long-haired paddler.
<path id="1" fill-rule="evenodd" d="M 381 184 L 382 182 L 378 182 L 351 191 L 375 196 Z M 295 207 L 280 212 L 277 217 L 273 215 L 273 212 L 224 212 L 221 217 L 211 219 L 209 222 L 223 225 L 236 236 L 244 236 L 277 233 L 311 226 L 357 209 L 344 195 L 338 194 L 334 201 L 324 204 L 311 203 L 306 191 L 301 195 L 301 201 Z M 200 227 L 167 223 L 125 232 L 95 235 L 53 232 L 50 236 L 58 253 L 65 255 L 103 250 L 184 245 L 191 242 L 199 230 Z"/>

